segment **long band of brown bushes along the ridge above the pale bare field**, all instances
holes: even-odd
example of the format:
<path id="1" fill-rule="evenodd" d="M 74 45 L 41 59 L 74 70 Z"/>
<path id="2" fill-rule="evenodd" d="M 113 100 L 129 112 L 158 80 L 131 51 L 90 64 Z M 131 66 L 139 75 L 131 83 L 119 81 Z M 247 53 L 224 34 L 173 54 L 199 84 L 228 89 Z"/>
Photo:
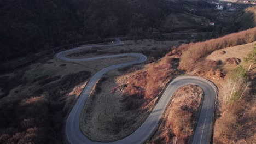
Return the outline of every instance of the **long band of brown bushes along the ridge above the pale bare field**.
<path id="1" fill-rule="evenodd" d="M 215 50 L 252 43 L 255 40 L 256 27 L 246 31 L 225 35 L 224 37 L 217 39 L 181 45 L 178 47 L 178 50 L 182 51 L 183 53 L 181 57 L 180 68 L 189 70 L 191 65 L 193 65 L 197 60 L 207 56 Z"/>

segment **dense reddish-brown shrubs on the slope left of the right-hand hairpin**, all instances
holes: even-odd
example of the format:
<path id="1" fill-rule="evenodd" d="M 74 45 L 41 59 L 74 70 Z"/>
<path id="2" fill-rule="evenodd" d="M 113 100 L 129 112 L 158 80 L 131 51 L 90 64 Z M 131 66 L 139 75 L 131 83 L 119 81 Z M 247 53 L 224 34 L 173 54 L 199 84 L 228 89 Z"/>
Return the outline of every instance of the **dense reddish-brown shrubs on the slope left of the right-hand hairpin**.
<path id="1" fill-rule="evenodd" d="M 136 71 L 129 77 L 127 87 L 124 88 L 125 110 L 137 109 L 141 105 L 147 105 L 162 89 L 165 88 L 174 75 L 177 61 L 172 56 L 165 56 L 158 62 L 148 65 L 146 69 Z"/>

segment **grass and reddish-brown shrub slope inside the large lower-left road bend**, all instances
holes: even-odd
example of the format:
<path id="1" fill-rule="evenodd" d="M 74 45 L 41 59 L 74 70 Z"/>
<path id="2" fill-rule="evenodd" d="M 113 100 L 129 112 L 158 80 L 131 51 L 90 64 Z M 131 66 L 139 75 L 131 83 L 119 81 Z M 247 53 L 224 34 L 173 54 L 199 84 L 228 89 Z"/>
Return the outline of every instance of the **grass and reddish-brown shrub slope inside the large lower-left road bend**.
<path id="1" fill-rule="evenodd" d="M 104 142 L 130 135 L 146 120 L 167 83 L 181 74 L 178 62 L 179 56 L 173 51 L 142 70 L 127 74 L 130 70 L 125 68 L 120 71 L 122 76 L 99 81 L 95 88 L 101 91 L 93 92 L 85 104 L 83 133 Z"/>

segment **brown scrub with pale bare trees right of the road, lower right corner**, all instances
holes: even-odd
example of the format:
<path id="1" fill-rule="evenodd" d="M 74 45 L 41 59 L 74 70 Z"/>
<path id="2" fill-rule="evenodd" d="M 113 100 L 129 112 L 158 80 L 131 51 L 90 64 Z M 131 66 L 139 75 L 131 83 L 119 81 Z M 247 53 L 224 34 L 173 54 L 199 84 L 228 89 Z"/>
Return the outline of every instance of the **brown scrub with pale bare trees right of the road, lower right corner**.
<path id="1" fill-rule="evenodd" d="M 224 83 L 214 143 L 254 143 L 256 125 L 256 74 L 238 66 Z"/>

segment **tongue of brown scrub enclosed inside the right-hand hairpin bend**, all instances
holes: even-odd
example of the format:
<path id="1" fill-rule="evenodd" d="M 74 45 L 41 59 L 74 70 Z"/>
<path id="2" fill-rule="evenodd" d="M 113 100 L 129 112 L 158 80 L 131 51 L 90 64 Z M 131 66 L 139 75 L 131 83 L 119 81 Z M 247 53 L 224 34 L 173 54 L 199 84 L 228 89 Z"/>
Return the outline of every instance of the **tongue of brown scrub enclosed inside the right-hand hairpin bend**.
<path id="1" fill-rule="evenodd" d="M 203 91 L 195 85 L 179 88 L 162 119 L 159 129 L 148 143 L 188 143 L 196 127 Z"/>

